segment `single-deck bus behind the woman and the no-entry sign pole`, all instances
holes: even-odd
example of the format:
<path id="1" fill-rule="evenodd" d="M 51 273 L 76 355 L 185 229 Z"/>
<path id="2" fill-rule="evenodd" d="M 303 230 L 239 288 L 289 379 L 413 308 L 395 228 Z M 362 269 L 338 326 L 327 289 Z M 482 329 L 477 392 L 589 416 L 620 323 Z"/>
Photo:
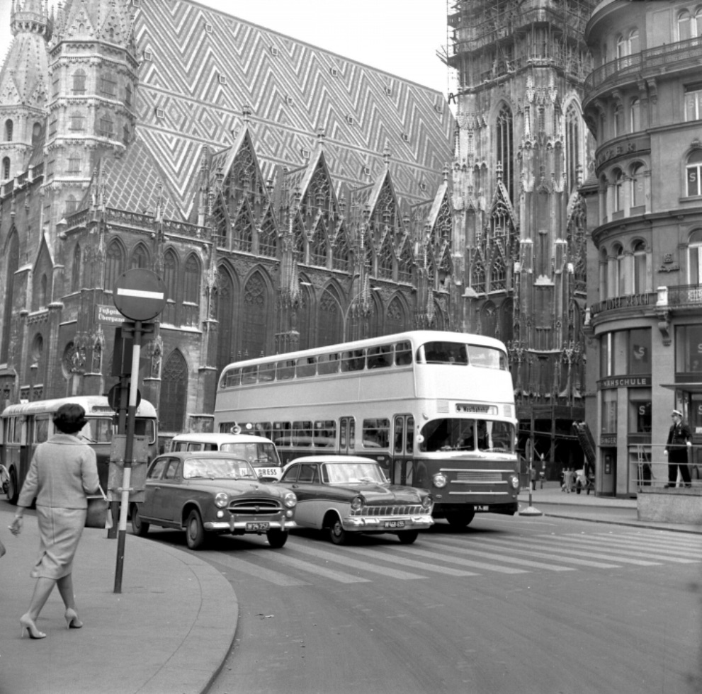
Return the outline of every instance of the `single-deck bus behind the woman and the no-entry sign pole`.
<path id="1" fill-rule="evenodd" d="M 117 433 L 117 413 L 108 399 L 100 395 L 35 400 L 7 406 L 0 415 L 0 464 L 7 470 L 7 498 L 12 504 L 27 476 L 35 448 L 54 435 L 53 416 L 66 403 L 75 403 L 85 410 L 86 426 L 76 436 L 95 450 L 98 475 L 103 489 L 108 487 L 110 448 Z M 158 419 L 154 406 L 142 400 L 137 406 L 135 434 L 147 437 L 149 460 L 157 454 Z"/>

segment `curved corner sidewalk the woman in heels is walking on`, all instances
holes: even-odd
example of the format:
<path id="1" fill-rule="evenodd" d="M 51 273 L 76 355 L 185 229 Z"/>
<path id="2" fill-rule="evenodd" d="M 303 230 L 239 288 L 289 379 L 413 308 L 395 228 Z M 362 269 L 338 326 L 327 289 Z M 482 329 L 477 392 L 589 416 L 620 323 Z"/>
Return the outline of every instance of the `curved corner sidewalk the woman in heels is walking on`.
<path id="1" fill-rule="evenodd" d="M 229 582 L 193 554 L 131 535 L 125 542 L 122 592 L 114 593 L 117 540 L 86 528 L 74 565 L 84 627 L 67 630 L 54 589 L 37 626 L 40 641 L 20 638 L 35 581 L 34 511 L 21 535 L 0 505 L 0 694 L 200 694 L 234 641 L 239 605 Z"/>

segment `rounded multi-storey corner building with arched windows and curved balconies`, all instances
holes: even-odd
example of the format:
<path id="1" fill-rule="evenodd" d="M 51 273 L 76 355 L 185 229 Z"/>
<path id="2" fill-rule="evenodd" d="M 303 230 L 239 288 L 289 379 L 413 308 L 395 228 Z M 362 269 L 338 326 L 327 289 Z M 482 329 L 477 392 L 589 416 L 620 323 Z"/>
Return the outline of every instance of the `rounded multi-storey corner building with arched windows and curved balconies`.
<path id="1" fill-rule="evenodd" d="M 604 1 L 586 38 L 587 419 L 599 491 L 627 496 L 667 482 L 672 409 L 702 444 L 702 5 Z"/>

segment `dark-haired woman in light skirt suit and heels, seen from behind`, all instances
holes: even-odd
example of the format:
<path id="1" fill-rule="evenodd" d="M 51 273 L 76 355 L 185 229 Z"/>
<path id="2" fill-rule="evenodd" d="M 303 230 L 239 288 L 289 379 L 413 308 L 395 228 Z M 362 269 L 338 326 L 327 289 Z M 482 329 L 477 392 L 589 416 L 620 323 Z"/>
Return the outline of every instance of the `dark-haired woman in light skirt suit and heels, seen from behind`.
<path id="1" fill-rule="evenodd" d="M 67 627 L 83 626 L 73 592 L 73 559 L 85 526 L 86 495 L 100 488 L 95 451 L 76 436 L 87 423 L 85 410 L 78 404 L 64 404 L 53 421 L 57 433 L 37 446 L 10 525 L 12 534 L 19 535 L 24 510 L 36 497 L 39 556 L 30 576 L 37 582 L 29 610 L 20 619 L 21 635 L 26 632 L 31 639 L 46 637 L 36 620 L 54 586 L 66 607 Z"/>

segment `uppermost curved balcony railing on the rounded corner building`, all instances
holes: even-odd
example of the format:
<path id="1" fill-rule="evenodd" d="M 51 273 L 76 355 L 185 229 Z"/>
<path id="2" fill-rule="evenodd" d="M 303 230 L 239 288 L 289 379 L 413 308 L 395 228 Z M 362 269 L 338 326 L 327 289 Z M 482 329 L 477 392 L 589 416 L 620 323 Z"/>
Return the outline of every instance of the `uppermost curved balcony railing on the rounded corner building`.
<path id="1" fill-rule="evenodd" d="M 702 38 L 691 38 L 668 45 L 642 50 L 634 55 L 627 55 L 605 63 L 593 70 L 585 80 L 585 100 L 595 90 L 604 86 L 613 86 L 627 78 L 634 79 L 640 73 L 657 73 L 664 66 L 678 69 L 698 65 L 702 57 Z"/>

